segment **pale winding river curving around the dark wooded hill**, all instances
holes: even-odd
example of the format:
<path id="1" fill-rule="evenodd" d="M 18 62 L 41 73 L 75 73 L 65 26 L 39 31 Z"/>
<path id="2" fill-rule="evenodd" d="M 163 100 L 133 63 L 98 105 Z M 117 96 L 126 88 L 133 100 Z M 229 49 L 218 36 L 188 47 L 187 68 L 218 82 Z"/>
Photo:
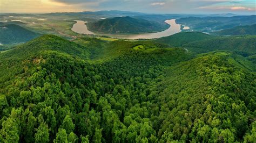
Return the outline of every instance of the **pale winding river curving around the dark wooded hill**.
<path id="1" fill-rule="evenodd" d="M 71 30 L 79 34 L 93 34 L 100 36 L 107 36 L 118 39 L 154 39 L 160 37 L 166 37 L 181 32 L 180 24 L 176 23 L 176 19 L 165 20 L 165 23 L 171 25 L 167 30 L 155 33 L 142 33 L 142 34 L 101 34 L 95 33 L 88 30 L 86 23 L 82 20 L 76 20 L 77 23 L 73 25 Z"/>

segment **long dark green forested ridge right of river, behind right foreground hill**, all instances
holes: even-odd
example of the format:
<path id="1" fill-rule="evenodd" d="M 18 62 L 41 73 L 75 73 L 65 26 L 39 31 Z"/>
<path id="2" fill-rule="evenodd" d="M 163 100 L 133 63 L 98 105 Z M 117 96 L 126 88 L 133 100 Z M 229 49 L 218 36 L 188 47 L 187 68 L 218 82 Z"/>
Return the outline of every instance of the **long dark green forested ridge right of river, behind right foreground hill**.
<path id="1" fill-rule="evenodd" d="M 171 47 L 183 47 L 188 51 L 206 53 L 212 51 L 232 51 L 242 56 L 256 54 L 256 36 L 213 36 L 201 32 L 182 32 L 156 40 Z"/>

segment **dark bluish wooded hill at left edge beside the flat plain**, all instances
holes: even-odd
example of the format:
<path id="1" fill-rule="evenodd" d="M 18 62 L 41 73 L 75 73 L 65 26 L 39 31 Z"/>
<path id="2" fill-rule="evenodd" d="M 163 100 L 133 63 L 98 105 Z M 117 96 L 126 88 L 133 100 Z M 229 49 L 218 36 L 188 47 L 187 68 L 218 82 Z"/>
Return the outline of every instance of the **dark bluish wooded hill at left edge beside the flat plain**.
<path id="1" fill-rule="evenodd" d="M 27 30 L 26 28 L 19 25 L 0 25 L 0 43 L 2 44 L 16 44 L 20 42 L 26 42 L 38 36 L 39 34 Z"/>

